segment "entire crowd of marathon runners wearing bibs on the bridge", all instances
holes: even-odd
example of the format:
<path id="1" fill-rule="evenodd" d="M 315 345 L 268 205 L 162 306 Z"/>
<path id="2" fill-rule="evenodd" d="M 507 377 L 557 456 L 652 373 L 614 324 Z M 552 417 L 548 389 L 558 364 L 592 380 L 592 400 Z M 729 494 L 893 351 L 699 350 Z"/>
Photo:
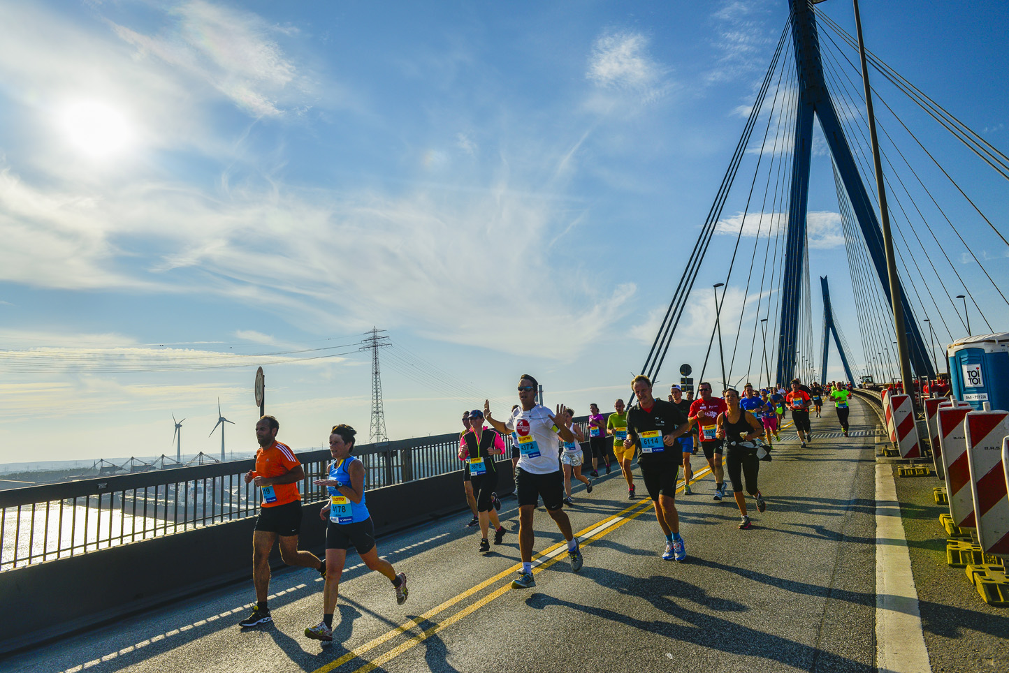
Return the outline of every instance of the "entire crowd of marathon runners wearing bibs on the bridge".
<path id="1" fill-rule="evenodd" d="M 760 463 L 771 459 L 774 442 L 781 440 L 786 412 L 791 414 L 802 447 L 813 438 L 809 414 L 821 417 L 824 399 L 833 405 L 844 435 L 849 432 L 850 383 L 827 386 L 813 383 L 807 387 L 796 379 L 788 389 L 776 386 L 759 391 L 748 383 L 742 393 L 726 388 L 716 397 L 711 384 L 701 382 L 697 399 L 693 399 L 690 391 L 684 393 L 678 386 L 672 386 L 665 400 L 654 396 L 652 382 L 644 375 L 635 377 L 631 388 L 635 403 L 630 408 L 623 399 L 618 399 L 607 417 L 592 404 L 584 429 L 574 423 L 573 410 L 563 404 L 557 405 L 553 412 L 539 404 L 539 383 L 528 374 L 519 380 L 519 404 L 507 416 L 494 417 L 487 401 L 483 409 L 463 414 L 458 457 L 463 461 L 465 496 L 473 514 L 468 525 L 479 527 L 480 553 L 490 550 L 491 526 L 495 545 L 501 544 L 509 532 L 497 516 L 501 504 L 496 494 L 500 468 L 496 458 L 509 451 L 506 443 L 511 444 L 522 561 L 513 587 L 528 588 L 536 584 L 533 520 L 541 501 L 567 542 L 571 569 L 575 572 L 581 569 L 581 549 L 564 506 L 574 506 L 572 479 L 585 485 L 586 495 L 591 494 L 592 479 L 598 477 L 600 465 L 609 474 L 612 462 L 616 462 L 627 482 L 628 498 L 634 500 L 637 489 L 632 462 L 637 455 L 645 492 L 665 537 L 661 556 L 667 561 L 683 561 L 687 554 L 680 535 L 676 491 L 682 465 L 683 493 L 692 495 L 691 484 L 697 476 L 690 458 L 698 450 L 714 477 L 714 501 L 725 497 L 727 472 L 740 511 L 739 527 L 746 530 L 752 526 L 747 494 L 758 512 L 768 507 L 758 487 Z M 318 625 L 306 628 L 305 635 L 332 641 L 333 614 L 348 549 L 353 547 L 369 569 L 388 578 L 400 604 L 409 596 L 407 575 L 397 572 L 378 556 L 374 525 L 365 504 L 365 470 L 361 460 L 352 455 L 356 432 L 349 425 L 332 428 L 329 447 L 333 460 L 329 463 L 328 478 L 314 482 L 325 488 L 329 496 L 319 511 L 319 518 L 326 526 L 325 558 L 298 549 L 302 525 L 298 484 L 305 479 L 305 470 L 291 448 L 276 440 L 278 430 L 279 423 L 272 416 L 263 416 L 256 422 L 259 449 L 255 468 L 245 475 L 246 484 L 260 489 L 262 502 L 252 535 L 256 604 L 239 625 L 248 628 L 271 621 L 267 605 L 268 558 L 273 546 L 278 545 L 285 563 L 315 568 L 324 577 L 323 619 Z M 583 444 L 587 444 L 587 451 Z M 586 452 L 592 463 L 587 475 L 582 470 Z"/>

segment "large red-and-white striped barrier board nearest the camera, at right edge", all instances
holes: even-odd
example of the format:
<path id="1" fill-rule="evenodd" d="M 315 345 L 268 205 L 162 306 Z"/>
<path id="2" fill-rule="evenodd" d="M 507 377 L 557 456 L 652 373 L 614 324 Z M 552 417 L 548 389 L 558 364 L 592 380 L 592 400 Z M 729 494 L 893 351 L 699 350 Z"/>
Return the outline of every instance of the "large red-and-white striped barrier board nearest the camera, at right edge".
<path id="1" fill-rule="evenodd" d="M 989 554 L 1009 556 L 1009 491 L 1002 464 L 1009 411 L 971 411 L 964 426 L 978 541 Z"/>

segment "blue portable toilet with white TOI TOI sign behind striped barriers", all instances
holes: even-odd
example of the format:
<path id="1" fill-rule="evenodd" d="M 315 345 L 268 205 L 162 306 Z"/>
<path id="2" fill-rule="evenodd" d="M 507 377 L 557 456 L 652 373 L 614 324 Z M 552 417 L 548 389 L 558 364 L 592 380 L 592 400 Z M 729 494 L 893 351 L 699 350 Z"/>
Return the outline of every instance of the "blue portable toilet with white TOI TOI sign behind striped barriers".
<path id="1" fill-rule="evenodd" d="M 952 396 L 978 411 L 1009 410 L 1009 332 L 968 336 L 946 348 Z"/>

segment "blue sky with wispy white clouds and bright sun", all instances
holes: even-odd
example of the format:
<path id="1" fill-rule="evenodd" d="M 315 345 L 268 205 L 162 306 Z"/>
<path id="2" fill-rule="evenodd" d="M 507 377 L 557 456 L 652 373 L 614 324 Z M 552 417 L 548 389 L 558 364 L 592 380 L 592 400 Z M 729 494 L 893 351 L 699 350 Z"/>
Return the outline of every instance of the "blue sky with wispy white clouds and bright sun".
<path id="1" fill-rule="evenodd" d="M 866 4 L 871 49 L 1009 146 L 1004 5 Z M 854 30 L 850 4 L 818 7 Z M 216 454 L 218 398 L 237 424 L 228 448 L 249 450 L 264 362 L 282 439 L 319 446 L 349 422 L 366 440 L 370 360 L 354 350 L 372 325 L 395 345 L 382 353 L 391 438 L 451 430 L 483 396 L 503 410 L 523 372 L 548 402 L 608 408 L 641 369 L 788 11 L 783 0 L 0 8 L 0 461 L 171 452 L 172 414 L 187 418 L 184 453 Z M 952 148 L 959 179 L 1009 231 L 1005 181 L 904 109 L 922 138 Z M 740 184 L 752 176 L 741 168 Z M 829 275 L 861 351 L 821 140 L 811 185 L 812 287 Z M 1004 281 L 990 231 L 947 186 L 936 192 Z M 666 382 L 681 362 L 700 368 L 710 284 L 745 199 L 737 188 L 726 203 Z M 979 303 L 997 306 L 948 245 Z M 731 283 L 725 315 L 743 306 Z M 1009 328 L 1004 306 L 989 315 L 996 330 Z M 820 310 L 814 291 L 814 342 Z M 327 354 L 343 355 L 303 360 Z"/>

